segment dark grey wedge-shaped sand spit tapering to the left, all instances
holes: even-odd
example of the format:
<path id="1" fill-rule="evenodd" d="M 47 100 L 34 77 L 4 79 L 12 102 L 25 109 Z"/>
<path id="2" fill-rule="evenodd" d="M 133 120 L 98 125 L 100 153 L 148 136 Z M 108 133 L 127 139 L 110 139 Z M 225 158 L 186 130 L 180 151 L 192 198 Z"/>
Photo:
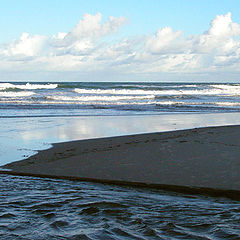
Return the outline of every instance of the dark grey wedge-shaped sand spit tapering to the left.
<path id="1" fill-rule="evenodd" d="M 240 191 L 240 126 L 53 144 L 13 172 Z"/>

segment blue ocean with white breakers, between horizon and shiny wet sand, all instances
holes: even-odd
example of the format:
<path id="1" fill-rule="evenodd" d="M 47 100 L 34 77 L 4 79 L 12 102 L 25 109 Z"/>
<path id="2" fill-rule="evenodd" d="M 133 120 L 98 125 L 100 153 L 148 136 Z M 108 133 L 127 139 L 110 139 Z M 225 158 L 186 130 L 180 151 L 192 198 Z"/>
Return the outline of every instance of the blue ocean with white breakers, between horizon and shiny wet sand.
<path id="1" fill-rule="evenodd" d="M 0 83 L 0 117 L 237 112 L 240 84 Z"/>

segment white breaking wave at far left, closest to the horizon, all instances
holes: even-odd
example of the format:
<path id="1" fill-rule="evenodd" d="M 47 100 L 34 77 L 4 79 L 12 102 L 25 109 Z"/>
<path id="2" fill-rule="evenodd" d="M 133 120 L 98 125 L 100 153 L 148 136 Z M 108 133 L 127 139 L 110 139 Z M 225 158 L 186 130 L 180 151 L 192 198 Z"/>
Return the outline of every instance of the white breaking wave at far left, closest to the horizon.
<path id="1" fill-rule="evenodd" d="M 24 89 L 24 90 L 36 90 L 36 89 L 55 89 L 58 84 L 12 84 L 12 83 L 0 83 L 0 90 L 6 89 Z"/>

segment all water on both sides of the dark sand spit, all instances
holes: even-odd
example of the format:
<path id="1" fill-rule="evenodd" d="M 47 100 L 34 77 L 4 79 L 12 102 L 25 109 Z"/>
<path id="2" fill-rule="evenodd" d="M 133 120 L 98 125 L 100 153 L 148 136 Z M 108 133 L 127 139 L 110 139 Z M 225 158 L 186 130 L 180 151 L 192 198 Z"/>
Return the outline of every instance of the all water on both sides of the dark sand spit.
<path id="1" fill-rule="evenodd" d="M 240 124 L 240 84 L 0 83 L 0 165 L 53 142 Z M 240 203 L 0 175 L 0 239 L 240 239 Z"/>

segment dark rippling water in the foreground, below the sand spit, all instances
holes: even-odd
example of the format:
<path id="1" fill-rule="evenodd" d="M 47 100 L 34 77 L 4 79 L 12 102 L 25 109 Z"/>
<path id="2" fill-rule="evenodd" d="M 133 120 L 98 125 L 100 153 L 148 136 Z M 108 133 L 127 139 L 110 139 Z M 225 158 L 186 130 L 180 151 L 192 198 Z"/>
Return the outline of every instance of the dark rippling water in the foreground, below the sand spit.
<path id="1" fill-rule="evenodd" d="M 0 175 L 0 239 L 240 239 L 240 202 Z"/>

